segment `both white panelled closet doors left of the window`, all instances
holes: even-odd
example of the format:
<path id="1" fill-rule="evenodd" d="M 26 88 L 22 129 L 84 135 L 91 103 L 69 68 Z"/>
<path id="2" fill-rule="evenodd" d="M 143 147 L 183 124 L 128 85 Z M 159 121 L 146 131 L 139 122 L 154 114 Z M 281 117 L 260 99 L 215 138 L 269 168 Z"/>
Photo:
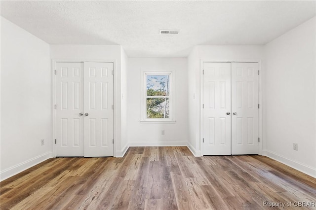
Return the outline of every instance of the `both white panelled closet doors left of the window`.
<path id="1" fill-rule="evenodd" d="M 113 63 L 56 62 L 56 156 L 113 156 Z"/>

